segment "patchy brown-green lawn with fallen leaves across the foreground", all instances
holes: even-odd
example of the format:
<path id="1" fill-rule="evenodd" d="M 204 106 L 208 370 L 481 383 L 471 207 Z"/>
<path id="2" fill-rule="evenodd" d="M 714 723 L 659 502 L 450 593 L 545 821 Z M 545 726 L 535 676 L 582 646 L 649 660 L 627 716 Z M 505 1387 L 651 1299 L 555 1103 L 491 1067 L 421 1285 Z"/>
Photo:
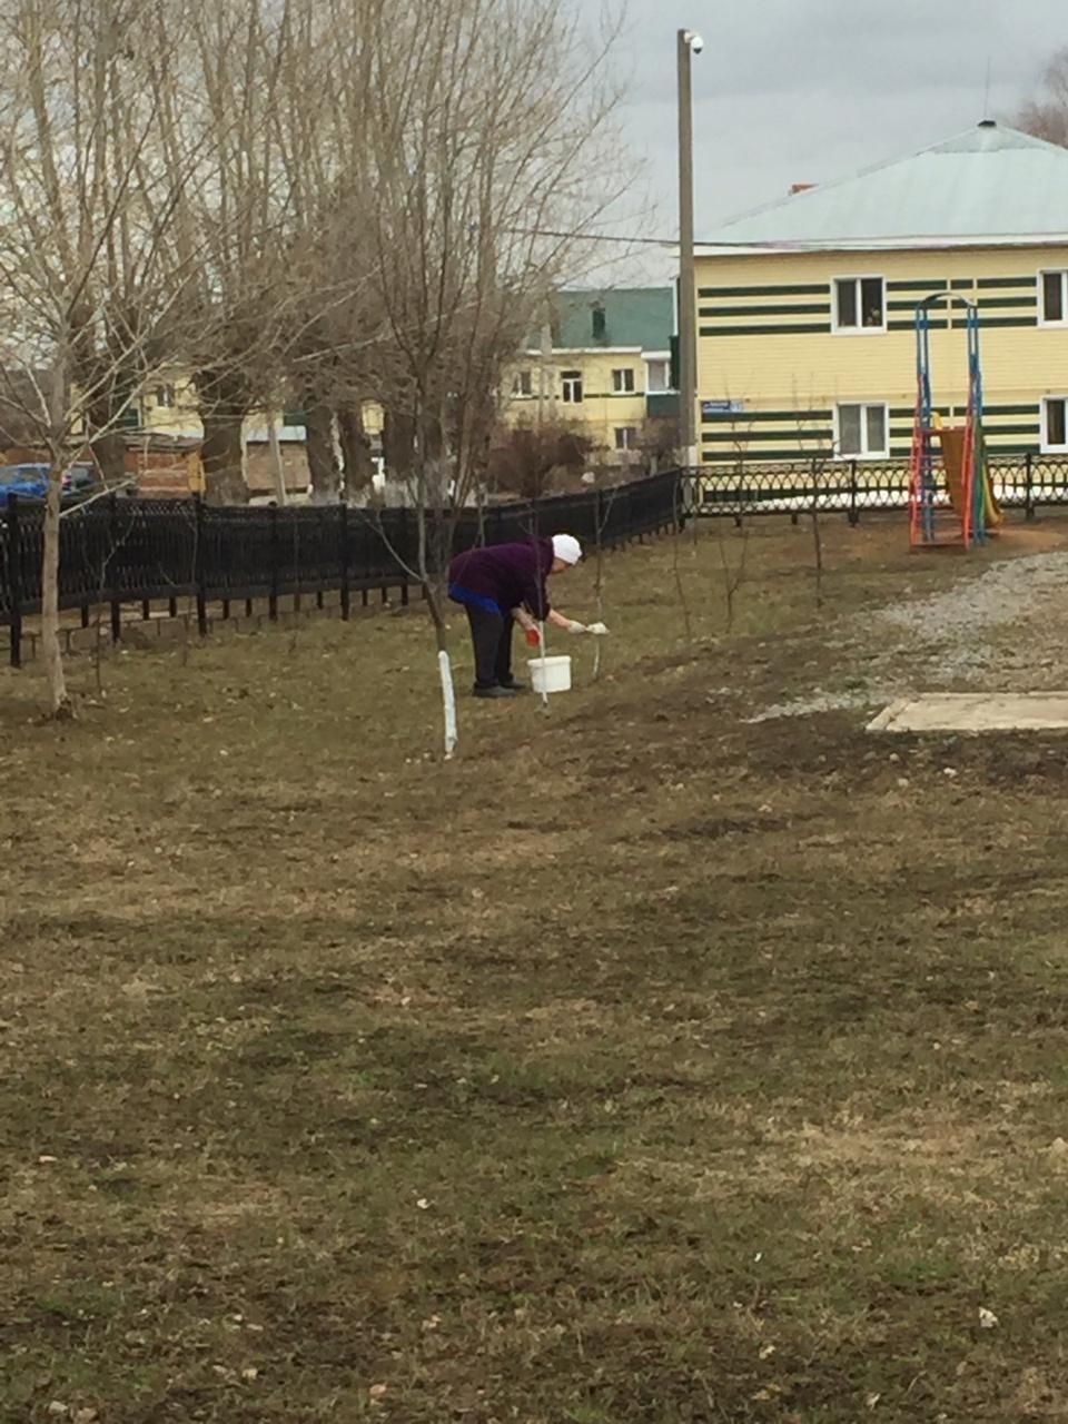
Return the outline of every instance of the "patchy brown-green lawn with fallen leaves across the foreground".
<path id="1" fill-rule="evenodd" d="M 863 732 L 1062 531 L 617 554 L 449 766 L 419 609 L 0 676 L 0 1418 L 1067 1418 L 1068 742 Z"/>

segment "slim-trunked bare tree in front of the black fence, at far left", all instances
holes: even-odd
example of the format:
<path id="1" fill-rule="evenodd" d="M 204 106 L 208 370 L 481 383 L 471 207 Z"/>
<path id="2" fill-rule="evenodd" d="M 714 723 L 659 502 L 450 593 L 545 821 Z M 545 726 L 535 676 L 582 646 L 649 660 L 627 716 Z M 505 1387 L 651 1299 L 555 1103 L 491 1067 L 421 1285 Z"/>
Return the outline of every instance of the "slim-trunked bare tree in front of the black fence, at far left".
<path id="1" fill-rule="evenodd" d="M 175 4 L 155 33 L 181 46 L 182 13 Z M 140 0 L 9 0 L 0 11 L 0 379 L 50 466 L 41 635 L 54 716 L 71 712 L 58 639 L 63 477 L 84 444 L 105 476 L 121 476 L 124 412 L 151 377 L 194 259 L 168 241 L 175 205 L 205 175 L 195 125 L 165 131 L 172 83 L 128 38 L 144 19 Z"/>

